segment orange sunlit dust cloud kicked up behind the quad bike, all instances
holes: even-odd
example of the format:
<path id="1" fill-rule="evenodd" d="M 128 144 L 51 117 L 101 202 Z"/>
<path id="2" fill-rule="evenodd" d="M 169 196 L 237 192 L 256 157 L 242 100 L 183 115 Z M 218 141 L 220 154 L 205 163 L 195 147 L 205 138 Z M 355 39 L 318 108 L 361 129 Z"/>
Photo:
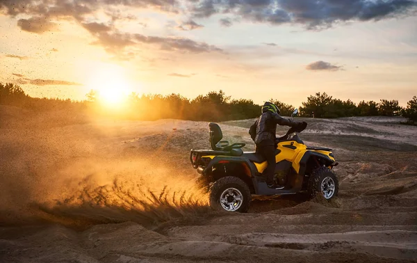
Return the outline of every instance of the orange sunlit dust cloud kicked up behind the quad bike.
<path id="1" fill-rule="evenodd" d="M 206 208 L 190 169 L 165 152 L 175 122 L 159 130 L 149 122 L 112 120 L 57 125 L 42 115 L 12 119 L 7 113 L 16 109 L 4 108 L 1 223 L 149 224 L 183 213 L 185 203 L 193 207 L 189 212 Z M 149 209 L 162 212 L 138 218 Z"/>

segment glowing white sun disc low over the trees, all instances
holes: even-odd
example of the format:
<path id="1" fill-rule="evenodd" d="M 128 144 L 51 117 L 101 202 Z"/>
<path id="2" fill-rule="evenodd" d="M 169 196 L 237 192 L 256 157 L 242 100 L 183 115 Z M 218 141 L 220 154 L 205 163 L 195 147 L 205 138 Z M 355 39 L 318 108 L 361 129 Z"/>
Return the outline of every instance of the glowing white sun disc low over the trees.
<path id="1" fill-rule="evenodd" d="M 99 101 L 106 106 L 121 106 L 131 92 L 124 68 L 112 64 L 98 65 L 91 74 L 88 88 L 97 90 Z"/>

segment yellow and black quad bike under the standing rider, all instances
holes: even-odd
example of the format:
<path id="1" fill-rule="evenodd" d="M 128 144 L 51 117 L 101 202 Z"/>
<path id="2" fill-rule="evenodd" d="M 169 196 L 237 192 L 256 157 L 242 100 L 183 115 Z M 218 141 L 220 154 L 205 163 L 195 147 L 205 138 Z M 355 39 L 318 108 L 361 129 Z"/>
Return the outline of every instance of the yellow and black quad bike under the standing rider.
<path id="1" fill-rule="evenodd" d="M 297 114 L 297 110 L 293 115 Z M 211 122 L 212 150 L 191 150 L 190 161 L 199 182 L 209 191 L 210 205 L 229 212 L 247 212 L 252 195 L 272 196 L 304 193 L 331 200 L 338 194 L 338 177 L 332 170 L 338 163 L 332 149 L 307 147 L 297 135 L 306 127 L 291 128 L 277 138 L 275 186 L 268 187 L 262 175 L 268 163 L 261 154 L 243 152 L 245 143 L 221 141 L 222 130 Z"/>

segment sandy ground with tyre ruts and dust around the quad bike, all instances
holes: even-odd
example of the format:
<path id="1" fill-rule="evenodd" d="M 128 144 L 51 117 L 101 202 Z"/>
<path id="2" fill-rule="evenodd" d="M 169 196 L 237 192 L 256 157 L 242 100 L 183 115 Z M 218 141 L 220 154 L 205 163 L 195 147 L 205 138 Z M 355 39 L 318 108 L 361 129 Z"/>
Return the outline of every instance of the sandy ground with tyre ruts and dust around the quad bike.
<path id="1" fill-rule="evenodd" d="M 417 127 L 398 118 L 305 119 L 341 163 L 338 198 L 247 214 L 195 186 L 207 122 L 48 119 L 0 109 L 0 262 L 417 262 Z M 252 122 L 220 125 L 253 150 Z"/>

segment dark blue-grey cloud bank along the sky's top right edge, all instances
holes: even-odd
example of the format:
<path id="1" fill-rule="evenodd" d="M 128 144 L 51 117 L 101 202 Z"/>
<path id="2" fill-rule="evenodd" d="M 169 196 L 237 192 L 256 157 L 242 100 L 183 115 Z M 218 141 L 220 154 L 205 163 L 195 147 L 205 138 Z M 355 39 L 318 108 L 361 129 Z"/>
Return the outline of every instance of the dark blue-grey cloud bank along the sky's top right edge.
<path id="1" fill-rule="evenodd" d="M 195 17 L 229 13 L 254 22 L 295 23 L 316 30 L 338 22 L 412 15 L 416 6 L 414 0 L 200 0 L 190 10 Z"/>

